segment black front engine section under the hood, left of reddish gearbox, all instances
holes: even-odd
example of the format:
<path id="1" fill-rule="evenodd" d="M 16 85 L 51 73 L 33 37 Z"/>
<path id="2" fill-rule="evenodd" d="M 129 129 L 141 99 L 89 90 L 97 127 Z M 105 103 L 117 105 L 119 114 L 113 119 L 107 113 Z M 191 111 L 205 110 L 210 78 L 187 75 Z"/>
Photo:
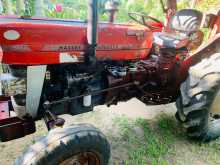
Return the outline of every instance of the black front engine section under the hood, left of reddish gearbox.
<path id="1" fill-rule="evenodd" d="M 81 68 L 83 70 L 81 70 Z M 28 117 L 26 112 L 27 67 L 8 66 L 13 80 L 3 81 L 3 94 L 11 96 L 12 106 L 20 118 Z M 101 74 L 85 72 L 81 65 L 50 65 L 47 67 L 44 85 L 38 108 L 38 117 L 45 112 L 43 103 L 53 102 L 67 97 L 74 97 L 100 91 L 107 87 L 106 78 Z M 72 115 L 91 111 L 93 106 L 104 104 L 104 95 L 87 95 L 68 103 L 51 107 L 54 114 L 70 113 Z"/>

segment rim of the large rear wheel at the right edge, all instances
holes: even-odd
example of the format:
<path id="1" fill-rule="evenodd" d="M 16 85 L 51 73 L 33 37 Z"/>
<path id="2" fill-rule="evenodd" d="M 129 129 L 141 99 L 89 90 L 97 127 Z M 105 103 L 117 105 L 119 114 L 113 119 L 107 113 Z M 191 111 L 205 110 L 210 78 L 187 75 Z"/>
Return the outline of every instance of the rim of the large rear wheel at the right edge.
<path id="1" fill-rule="evenodd" d="M 220 90 L 215 96 L 215 99 L 210 107 L 210 120 L 220 119 Z"/>

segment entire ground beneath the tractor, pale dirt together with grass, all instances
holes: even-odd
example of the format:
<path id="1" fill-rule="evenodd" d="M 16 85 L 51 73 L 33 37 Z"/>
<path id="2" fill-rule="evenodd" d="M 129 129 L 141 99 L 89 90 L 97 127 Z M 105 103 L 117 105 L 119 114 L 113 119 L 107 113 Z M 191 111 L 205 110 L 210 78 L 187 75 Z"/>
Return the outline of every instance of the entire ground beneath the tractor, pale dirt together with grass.
<path id="1" fill-rule="evenodd" d="M 155 151 L 151 151 L 147 148 L 150 146 L 148 144 L 144 150 L 146 149 L 149 155 L 143 155 L 144 152 L 140 152 L 140 154 L 135 157 L 135 159 L 143 159 L 145 162 L 149 162 L 147 163 L 149 165 L 220 164 L 220 158 L 218 157 L 220 154 L 220 140 L 209 144 L 199 144 L 189 141 L 182 133 L 183 131 L 176 120 L 173 119 L 175 111 L 176 108 L 174 104 L 146 106 L 138 100 L 132 99 L 127 103 L 120 103 L 110 108 L 106 106 L 96 107 L 92 113 L 74 117 L 64 115 L 63 117 L 66 119 L 66 125 L 91 123 L 100 128 L 107 135 L 111 143 L 112 156 L 110 164 L 112 165 L 137 164 L 135 163 L 137 160 L 132 159 L 134 159 L 136 151 L 139 153 L 140 146 L 135 143 L 136 141 L 130 139 L 133 135 L 135 135 L 135 138 L 140 142 L 145 142 L 146 138 L 148 139 L 147 141 L 150 140 L 150 142 L 151 140 L 154 142 L 154 139 L 163 140 L 163 138 L 165 138 L 168 140 L 168 142 L 159 143 L 166 149 L 165 151 L 167 153 L 162 153 L 155 147 L 154 150 L 156 151 L 157 157 L 154 157 L 152 152 L 154 153 Z M 166 114 L 166 117 L 161 120 L 158 116 L 163 116 L 164 114 Z M 140 125 L 130 124 L 137 118 L 142 118 L 147 121 L 147 124 L 149 123 L 150 132 L 144 131 L 144 127 L 142 128 Z M 168 125 L 166 123 L 168 123 Z M 160 129 L 158 125 L 163 129 Z M 28 145 L 33 144 L 37 138 L 46 135 L 47 131 L 42 121 L 37 122 L 37 129 L 38 131 L 33 135 L 6 143 L 0 143 L 0 165 L 13 164 L 16 156 L 21 154 Z M 159 148 L 161 146 L 159 146 Z M 131 147 L 134 149 L 131 150 Z M 162 147 L 161 149 L 164 149 Z"/>

